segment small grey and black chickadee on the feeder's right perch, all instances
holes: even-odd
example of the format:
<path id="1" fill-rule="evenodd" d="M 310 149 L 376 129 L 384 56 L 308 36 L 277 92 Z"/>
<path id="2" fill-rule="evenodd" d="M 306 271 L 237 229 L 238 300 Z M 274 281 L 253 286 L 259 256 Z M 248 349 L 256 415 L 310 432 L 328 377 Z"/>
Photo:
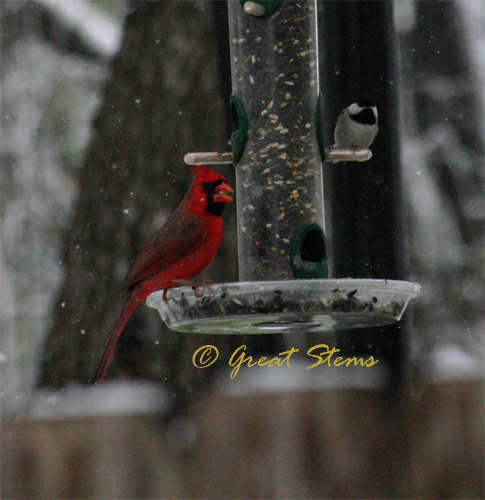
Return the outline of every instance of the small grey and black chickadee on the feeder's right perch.
<path id="1" fill-rule="evenodd" d="M 372 97 L 365 95 L 343 109 L 335 127 L 337 149 L 368 148 L 377 134 L 377 108 Z"/>

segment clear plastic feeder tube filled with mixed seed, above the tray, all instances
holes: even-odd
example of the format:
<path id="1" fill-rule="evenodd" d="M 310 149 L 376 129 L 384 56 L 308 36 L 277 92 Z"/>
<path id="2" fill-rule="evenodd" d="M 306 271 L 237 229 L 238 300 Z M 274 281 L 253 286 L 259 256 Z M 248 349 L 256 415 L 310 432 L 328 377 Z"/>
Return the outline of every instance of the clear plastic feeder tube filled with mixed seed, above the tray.
<path id="1" fill-rule="evenodd" d="M 240 158 L 233 134 L 239 279 L 308 277 L 295 275 L 290 256 L 311 223 L 322 236 L 307 241 L 308 259 L 325 254 L 316 1 L 281 2 L 266 17 L 248 14 L 237 0 L 228 7 L 232 91 L 247 118 Z M 241 129 L 234 103 L 232 112 Z"/>

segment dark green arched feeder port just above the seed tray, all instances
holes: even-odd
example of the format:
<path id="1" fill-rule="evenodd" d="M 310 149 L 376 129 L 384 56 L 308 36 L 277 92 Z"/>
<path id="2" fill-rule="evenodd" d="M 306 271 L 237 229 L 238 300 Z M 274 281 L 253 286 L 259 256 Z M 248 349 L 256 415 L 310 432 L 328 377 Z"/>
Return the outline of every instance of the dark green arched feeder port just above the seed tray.
<path id="1" fill-rule="evenodd" d="M 318 224 L 307 224 L 298 231 L 291 245 L 290 263 L 297 279 L 328 277 L 325 235 Z"/>

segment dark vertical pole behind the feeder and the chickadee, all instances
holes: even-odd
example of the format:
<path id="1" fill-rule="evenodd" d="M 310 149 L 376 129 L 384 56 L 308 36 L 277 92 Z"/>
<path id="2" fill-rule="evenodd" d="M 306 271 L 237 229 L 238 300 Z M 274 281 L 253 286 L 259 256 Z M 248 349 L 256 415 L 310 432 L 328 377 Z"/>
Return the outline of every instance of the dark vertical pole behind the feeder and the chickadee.
<path id="1" fill-rule="evenodd" d="M 366 163 L 328 167 L 333 277 L 405 279 L 407 243 L 399 158 L 398 76 L 392 2 L 320 2 L 326 144 L 339 111 L 362 94 L 374 97 L 379 134 Z M 387 362 L 392 380 L 408 370 L 406 320 L 340 332 L 342 349 Z"/>

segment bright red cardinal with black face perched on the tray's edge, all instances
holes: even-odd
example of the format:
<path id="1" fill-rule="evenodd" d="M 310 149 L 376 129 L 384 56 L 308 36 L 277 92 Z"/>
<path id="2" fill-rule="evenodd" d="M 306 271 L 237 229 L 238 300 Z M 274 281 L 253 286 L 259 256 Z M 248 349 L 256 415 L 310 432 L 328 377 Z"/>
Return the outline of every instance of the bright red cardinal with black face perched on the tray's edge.
<path id="1" fill-rule="evenodd" d="M 156 290 L 190 280 L 212 261 L 222 240 L 222 212 L 234 191 L 210 168 L 192 167 L 195 179 L 172 217 L 132 262 L 124 288 L 125 307 L 93 377 L 100 382 L 121 332 L 138 305 Z"/>

